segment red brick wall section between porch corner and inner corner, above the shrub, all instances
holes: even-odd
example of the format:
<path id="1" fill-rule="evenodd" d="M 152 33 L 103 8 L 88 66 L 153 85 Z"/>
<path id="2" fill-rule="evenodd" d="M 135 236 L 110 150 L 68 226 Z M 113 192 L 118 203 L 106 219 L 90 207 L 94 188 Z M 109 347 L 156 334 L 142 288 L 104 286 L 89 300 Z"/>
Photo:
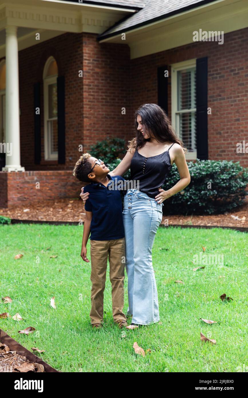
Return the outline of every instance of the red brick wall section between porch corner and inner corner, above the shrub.
<path id="1" fill-rule="evenodd" d="M 96 37 L 83 34 L 83 131 L 87 149 L 107 136 L 132 136 L 130 49 L 125 44 L 99 44 Z"/>

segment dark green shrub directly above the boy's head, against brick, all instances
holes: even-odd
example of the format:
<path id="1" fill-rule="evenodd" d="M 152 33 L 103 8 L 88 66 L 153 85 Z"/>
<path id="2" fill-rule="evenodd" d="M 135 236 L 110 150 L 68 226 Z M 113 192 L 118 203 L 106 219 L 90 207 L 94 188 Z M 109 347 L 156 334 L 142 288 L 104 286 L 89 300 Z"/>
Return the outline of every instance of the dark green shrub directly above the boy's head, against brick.
<path id="1" fill-rule="evenodd" d="M 103 162 L 108 166 L 109 163 L 122 157 L 122 154 L 126 154 L 125 140 L 121 138 L 108 137 L 107 139 L 91 146 L 90 154 L 97 159 L 103 160 Z"/>

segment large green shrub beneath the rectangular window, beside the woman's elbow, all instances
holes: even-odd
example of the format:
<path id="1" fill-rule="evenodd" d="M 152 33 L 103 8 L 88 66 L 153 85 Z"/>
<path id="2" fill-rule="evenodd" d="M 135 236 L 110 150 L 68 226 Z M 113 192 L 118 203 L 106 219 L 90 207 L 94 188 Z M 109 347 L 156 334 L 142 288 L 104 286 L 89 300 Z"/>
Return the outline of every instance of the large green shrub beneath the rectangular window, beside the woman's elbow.
<path id="1" fill-rule="evenodd" d="M 244 203 L 248 191 L 248 169 L 239 162 L 199 160 L 188 162 L 190 184 L 165 200 L 166 214 L 220 214 Z M 168 190 L 180 179 L 173 164 L 169 178 L 162 186 Z M 211 184 L 210 184 L 211 183 Z"/>

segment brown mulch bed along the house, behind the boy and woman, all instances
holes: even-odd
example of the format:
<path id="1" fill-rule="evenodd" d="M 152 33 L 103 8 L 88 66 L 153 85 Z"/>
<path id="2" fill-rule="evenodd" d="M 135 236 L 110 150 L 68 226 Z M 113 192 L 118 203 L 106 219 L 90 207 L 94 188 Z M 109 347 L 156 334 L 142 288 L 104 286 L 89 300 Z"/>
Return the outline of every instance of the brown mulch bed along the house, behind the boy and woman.
<path id="1" fill-rule="evenodd" d="M 8 209 L 0 208 L 0 215 L 15 220 L 37 220 L 37 221 L 62 221 L 79 222 L 84 221 L 85 210 L 83 201 L 79 199 L 57 199 L 56 201 L 43 201 L 41 203 L 30 203 L 25 205 L 10 206 Z M 235 219 L 231 216 L 238 217 Z M 161 224 L 168 219 L 169 225 L 194 225 L 194 226 L 226 226 L 226 227 L 248 227 L 248 198 L 244 205 L 235 211 L 219 215 L 204 216 L 163 216 Z M 240 220 L 242 219 L 242 220 Z"/>

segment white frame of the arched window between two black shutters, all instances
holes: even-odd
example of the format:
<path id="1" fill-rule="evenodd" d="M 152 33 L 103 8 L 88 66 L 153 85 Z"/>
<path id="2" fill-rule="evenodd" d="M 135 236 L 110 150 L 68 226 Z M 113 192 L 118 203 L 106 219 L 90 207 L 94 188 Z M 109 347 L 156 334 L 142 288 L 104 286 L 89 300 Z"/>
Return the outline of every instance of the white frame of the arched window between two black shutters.
<path id="1" fill-rule="evenodd" d="M 45 147 L 45 160 L 58 160 L 58 153 L 51 153 L 50 148 L 50 140 L 48 142 L 48 131 L 47 131 L 47 121 L 48 121 L 48 86 L 50 84 L 57 84 L 58 75 L 51 75 L 46 77 L 47 69 L 50 65 L 50 62 L 54 61 L 54 57 L 49 57 L 43 72 L 43 101 L 44 101 L 44 147 Z M 57 87 L 58 88 L 58 87 Z M 54 117 L 49 120 L 58 120 L 58 117 Z"/>

